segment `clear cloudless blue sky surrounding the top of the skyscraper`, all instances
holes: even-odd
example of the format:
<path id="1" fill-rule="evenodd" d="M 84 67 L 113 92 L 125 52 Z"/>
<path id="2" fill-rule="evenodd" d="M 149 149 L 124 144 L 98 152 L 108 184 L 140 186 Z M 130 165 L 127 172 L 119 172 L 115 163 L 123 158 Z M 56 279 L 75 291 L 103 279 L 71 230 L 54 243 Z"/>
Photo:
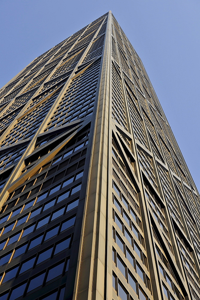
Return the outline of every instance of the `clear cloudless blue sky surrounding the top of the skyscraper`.
<path id="1" fill-rule="evenodd" d="M 200 190 L 199 0 L 1 0 L 0 87 L 108 10 L 142 59 Z"/>

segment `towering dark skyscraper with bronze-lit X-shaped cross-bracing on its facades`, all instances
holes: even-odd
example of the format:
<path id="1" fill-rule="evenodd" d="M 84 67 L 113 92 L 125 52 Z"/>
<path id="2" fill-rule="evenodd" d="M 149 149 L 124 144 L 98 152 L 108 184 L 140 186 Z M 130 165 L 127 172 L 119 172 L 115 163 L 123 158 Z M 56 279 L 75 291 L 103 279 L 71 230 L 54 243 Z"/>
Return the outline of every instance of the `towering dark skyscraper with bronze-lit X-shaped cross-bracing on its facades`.
<path id="1" fill-rule="evenodd" d="M 112 13 L 0 97 L 0 300 L 199 300 L 199 194 Z"/>

